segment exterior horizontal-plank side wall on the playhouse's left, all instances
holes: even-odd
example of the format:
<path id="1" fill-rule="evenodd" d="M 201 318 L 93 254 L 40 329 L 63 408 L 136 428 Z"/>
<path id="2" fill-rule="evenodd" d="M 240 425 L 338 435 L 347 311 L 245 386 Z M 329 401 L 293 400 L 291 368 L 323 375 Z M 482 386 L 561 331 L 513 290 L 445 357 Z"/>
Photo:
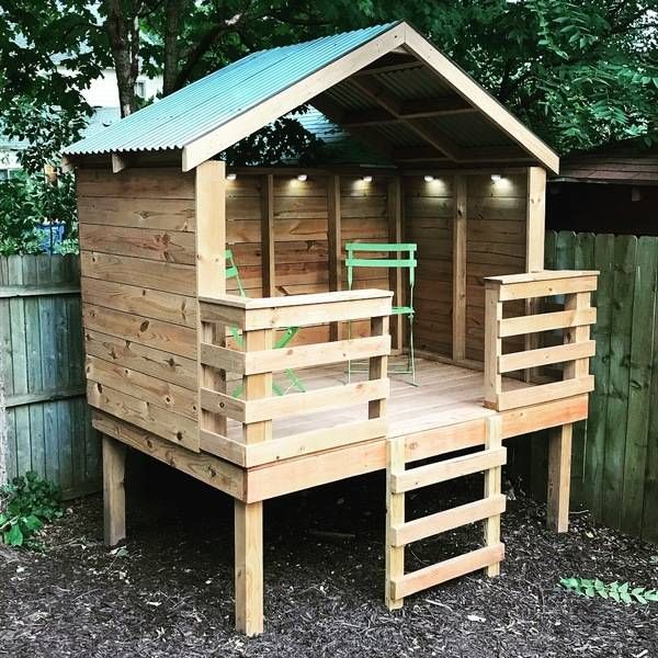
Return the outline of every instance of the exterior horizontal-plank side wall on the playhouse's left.
<path id="1" fill-rule="evenodd" d="M 77 183 L 88 401 L 194 449 L 193 173 L 79 170 Z"/>

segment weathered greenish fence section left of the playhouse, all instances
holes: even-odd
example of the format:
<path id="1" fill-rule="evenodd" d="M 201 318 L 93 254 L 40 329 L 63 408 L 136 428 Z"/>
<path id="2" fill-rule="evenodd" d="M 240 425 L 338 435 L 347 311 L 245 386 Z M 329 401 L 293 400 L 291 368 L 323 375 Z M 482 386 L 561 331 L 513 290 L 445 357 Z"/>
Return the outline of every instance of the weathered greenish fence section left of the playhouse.
<path id="1" fill-rule="evenodd" d="M 67 498 L 98 490 L 77 256 L 0 258 L 0 477 L 32 469 Z"/>

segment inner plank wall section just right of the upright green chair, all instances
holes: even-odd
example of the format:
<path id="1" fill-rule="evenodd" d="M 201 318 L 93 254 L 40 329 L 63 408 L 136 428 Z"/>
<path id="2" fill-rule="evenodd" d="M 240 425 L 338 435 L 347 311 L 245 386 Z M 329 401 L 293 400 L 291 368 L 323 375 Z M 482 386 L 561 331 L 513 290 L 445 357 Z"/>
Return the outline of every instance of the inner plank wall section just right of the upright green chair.
<path id="1" fill-rule="evenodd" d="M 418 243 L 416 348 L 452 355 L 454 177 L 404 179 L 405 239 Z"/>

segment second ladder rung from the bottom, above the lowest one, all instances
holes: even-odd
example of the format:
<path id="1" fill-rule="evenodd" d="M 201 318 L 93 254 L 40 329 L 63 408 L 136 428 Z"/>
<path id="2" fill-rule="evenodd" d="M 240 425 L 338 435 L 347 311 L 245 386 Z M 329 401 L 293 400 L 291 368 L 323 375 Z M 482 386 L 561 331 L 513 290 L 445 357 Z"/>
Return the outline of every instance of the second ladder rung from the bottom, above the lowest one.
<path id="1" fill-rule="evenodd" d="M 476 523 L 502 514 L 504 507 L 504 496 L 497 494 L 483 500 L 461 504 L 451 510 L 408 521 L 401 525 L 394 525 L 390 533 L 390 543 L 393 546 L 405 546 L 411 542 L 426 540 L 468 523 Z"/>

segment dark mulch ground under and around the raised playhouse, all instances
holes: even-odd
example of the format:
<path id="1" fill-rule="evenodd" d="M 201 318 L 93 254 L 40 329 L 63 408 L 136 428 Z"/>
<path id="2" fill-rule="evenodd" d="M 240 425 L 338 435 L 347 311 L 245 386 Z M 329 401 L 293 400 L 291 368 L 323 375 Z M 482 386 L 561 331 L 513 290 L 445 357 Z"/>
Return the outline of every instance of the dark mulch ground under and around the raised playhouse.
<path id="1" fill-rule="evenodd" d="M 424 491 L 409 518 L 477 497 Z M 411 497 L 409 497 L 411 498 Z M 412 511 L 415 510 L 415 511 Z M 571 515 L 508 501 L 500 578 L 462 578 L 383 604 L 382 474 L 265 503 L 264 635 L 232 629 L 232 506 L 180 474 L 157 470 L 128 492 L 125 549 L 102 544 L 100 496 L 69 503 L 43 553 L 0 546 L 0 656 L 658 656 L 658 603 L 586 599 L 568 576 L 658 587 L 658 546 Z M 477 544 L 478 527 L 412 546 L 408 569 Z"/>

